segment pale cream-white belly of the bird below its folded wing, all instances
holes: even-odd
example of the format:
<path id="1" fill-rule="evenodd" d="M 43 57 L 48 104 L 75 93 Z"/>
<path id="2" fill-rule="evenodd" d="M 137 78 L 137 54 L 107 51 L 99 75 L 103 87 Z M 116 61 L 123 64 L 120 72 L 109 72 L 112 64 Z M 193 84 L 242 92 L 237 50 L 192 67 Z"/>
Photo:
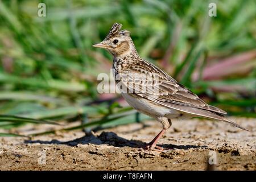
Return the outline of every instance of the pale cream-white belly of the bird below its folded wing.
<path id="1" fill-rule="evenodd" d="M 152 101 L 148 101 L 146 98 L 134 98 L 127 93 L 123 93 L 122 96 L 134 109 L 151 117 L 168 117 L 171 119 L 177 118 L 180 115 L 178 110 L 160 106 Z"/>

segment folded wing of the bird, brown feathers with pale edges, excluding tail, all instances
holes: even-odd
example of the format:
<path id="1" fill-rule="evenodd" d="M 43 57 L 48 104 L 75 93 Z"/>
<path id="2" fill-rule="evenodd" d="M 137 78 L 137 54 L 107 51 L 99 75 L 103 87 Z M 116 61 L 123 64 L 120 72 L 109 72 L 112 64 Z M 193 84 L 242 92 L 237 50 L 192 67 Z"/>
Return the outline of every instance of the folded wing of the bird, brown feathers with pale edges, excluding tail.
<path id="1" fill-rule="evenodd" d="M 146 92 L 141 94 L 142 97 L 154 97 L 155 100 L 163 104 L 171 103 L 209 110 L 221 115 L 226 114 L 224 110 L 206 104 L 196 94 L 192 93 L 191 90 L 179 84 L 174 78 L 151 63 L 144 62 L 143 65 L 141 63 L 133 64 L 125 68 L 124 71 L 123 73 L 128 74 L 126 80 L 129 78 L 126 85 L 127 88 L 133 89 L 135 93 L 140 93 L 143 88 L 147 88 Z M 146 75 L 144 77 L 147 78 L 143 79 L 143 75 Z M 139 80 L 140 78 L 141 80 Z"/>

